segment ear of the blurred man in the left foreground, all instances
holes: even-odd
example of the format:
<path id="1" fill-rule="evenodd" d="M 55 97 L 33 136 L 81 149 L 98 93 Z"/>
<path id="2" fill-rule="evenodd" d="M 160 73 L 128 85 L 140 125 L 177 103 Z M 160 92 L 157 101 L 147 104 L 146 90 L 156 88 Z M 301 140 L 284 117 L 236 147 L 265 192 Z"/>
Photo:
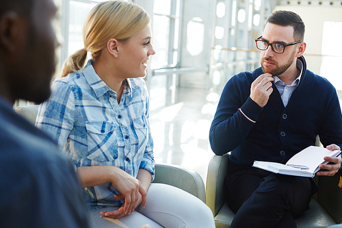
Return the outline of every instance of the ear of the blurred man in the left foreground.
<path id="1" fill-rule="evenodd" d="M 0 48 L 6 52 L 16 52 L 26 45 L 27 27 L 18 13 L 5 12 L 0 16 Z"/>

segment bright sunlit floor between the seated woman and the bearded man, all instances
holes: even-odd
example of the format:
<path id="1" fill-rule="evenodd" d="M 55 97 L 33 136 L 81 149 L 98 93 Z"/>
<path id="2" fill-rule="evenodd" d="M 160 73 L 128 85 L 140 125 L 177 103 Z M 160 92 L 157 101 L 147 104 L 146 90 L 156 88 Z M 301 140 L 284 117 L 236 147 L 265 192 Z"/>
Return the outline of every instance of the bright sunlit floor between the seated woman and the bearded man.
<path id="1" fill-rule="evenodd" d="M 209 127 L 220 95 L 209 90 L 168 87 L 163 82 L 155 79 L 150 88 L 155 161 L 195 170 L 205 182 L 213 156 Z"/>

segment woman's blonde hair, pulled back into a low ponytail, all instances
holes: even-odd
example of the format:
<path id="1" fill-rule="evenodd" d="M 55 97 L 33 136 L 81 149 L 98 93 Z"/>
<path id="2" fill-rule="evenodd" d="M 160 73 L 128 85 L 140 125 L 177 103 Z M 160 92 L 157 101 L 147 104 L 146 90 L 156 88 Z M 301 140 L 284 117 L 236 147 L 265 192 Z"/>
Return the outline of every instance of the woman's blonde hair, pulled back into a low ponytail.
<path id="1" fill-rule="evenodd" d="M 107 41 L 115 38 L 126 42 L 150 23 L 147 12 L 126 1 L 105 1 L 98 3 L 88 14 L 83 25 L 84 48 L 70 55 L 62 68 L 60 77 L 79 71 L 84 67 L 88 51 L 96 59 L 107 46 Z"/>

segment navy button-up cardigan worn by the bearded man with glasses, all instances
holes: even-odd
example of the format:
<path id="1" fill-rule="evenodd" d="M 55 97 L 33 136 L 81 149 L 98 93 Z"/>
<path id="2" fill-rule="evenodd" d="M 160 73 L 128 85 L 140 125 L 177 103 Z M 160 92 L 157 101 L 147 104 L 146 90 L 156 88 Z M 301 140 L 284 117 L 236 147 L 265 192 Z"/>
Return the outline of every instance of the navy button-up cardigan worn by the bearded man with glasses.
<path id="1" fill-rule="evenodd" d="M 238 166 L 251 166 L 254 160 L 286 163 L 314 145 L 317 135 L 324 147 L 334 143 L 342 148 L 337 92 L 327 79 L 306 69 L 304 57 L 299 60 L 304 66 L 302 77 L 287 107 L 274 84 L 265 107 L 250 99 L 250 86 L 263 74 L 261 68 L 234 75 L 227 82 L 209 133 L 216 155 L 231 151 L 230 160 Z"/>

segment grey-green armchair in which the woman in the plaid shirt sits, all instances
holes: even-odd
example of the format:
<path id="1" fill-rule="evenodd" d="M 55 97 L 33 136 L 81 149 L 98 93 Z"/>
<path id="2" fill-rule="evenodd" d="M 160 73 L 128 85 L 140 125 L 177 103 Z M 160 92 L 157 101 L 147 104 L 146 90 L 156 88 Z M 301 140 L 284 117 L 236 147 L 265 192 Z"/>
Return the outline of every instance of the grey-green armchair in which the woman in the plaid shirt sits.
<path id="1" fill-rule="evenodd" d="M 36 122 L 39 105 L 18 106 L 15 111 L 21 114 L 32 124 Z M 154 183 L 166 183 L 171 186 L 181 188 L 205 203 L 205 183 L 202 177 L 193 170 L 182 166 L 170 164 L 155 165 Z"/>

